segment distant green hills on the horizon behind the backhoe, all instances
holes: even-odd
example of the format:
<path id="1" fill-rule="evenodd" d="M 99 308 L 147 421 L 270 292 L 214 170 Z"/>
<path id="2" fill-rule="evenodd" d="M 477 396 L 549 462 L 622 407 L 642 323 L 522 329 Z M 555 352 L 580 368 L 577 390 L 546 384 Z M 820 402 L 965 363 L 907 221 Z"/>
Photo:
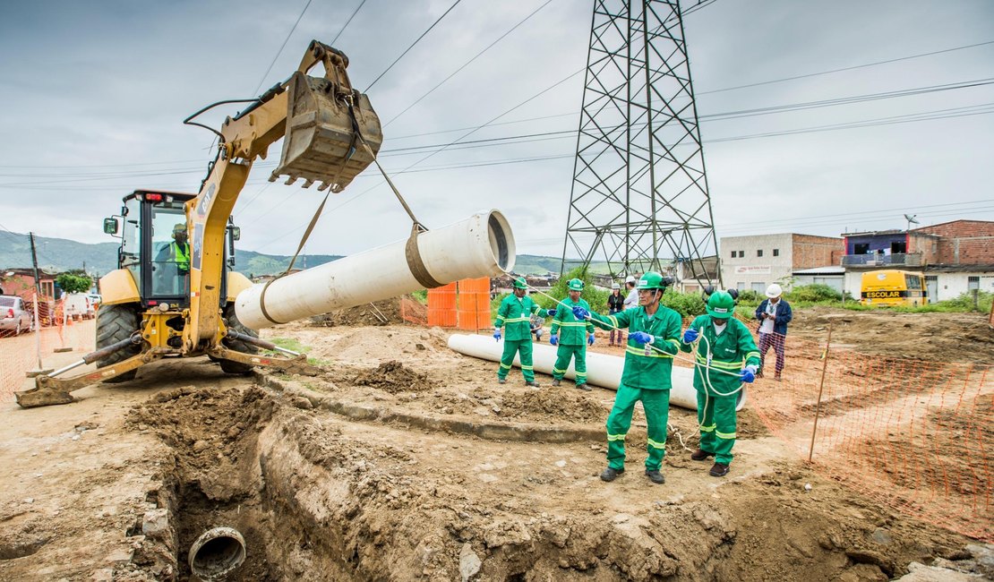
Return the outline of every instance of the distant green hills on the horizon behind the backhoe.
<path id="1" fill-rule="evenodd" d="M 59 273 L 85 266 L 89 273 L 103 275 L 117 268 L 116 242 L 86 244 L 68 238 L 35 236 L 38 267 L 50 273 Z M 306 254 L 297 257 L 295 268 L 316 267 L 342 258 L 336 254 Z M 281 273 L 290 262 L 289 255 L 263 254 L 252 250 L 238 250 L 235 270 L 246 276 Z M 0 230 L 0 269 L 31 267 L 31 243 L 27 234 Z M 560 258 L 534 254 L 519 254 L 514 271 L 523 275 L 542 275 L 558 272 Z M 603 265 L 593 265 L 594 272 L 603 272 Z"/>

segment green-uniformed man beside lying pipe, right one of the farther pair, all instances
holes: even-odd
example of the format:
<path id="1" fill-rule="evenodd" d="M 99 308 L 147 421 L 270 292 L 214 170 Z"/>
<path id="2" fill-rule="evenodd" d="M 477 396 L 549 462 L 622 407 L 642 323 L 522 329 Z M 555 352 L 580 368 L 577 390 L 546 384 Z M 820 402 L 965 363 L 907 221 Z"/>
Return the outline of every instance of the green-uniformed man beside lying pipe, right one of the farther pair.
<path id="1" fill-rule="evenodd" d="M 567 283 L 570 296 L 559 303 L 556 309 L 550 309 L 548 314 L 553 316 L 552 336 L 549 343 L 559 346 L 556 351 L 556 364 L 553 364 L 553 385 L 558 386 L 570 367 L 570 360 L 577 359 L 574 368 L 577 371 L 577 387 L 590 391 L 586 385 L 586 347 L 593 345 L 593 324 L 578 320 L 573 315 L 574 307 L 582 307 L 590 311 L 590 304 L 580 299 L 583 292 L 583 282 L 571 279 Z"/>

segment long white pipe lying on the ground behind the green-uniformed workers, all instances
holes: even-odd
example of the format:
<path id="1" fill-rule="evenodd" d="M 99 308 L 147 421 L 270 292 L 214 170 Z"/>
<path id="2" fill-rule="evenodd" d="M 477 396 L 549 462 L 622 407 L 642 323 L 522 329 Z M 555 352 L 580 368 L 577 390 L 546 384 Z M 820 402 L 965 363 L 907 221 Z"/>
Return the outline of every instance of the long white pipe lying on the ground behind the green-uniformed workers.
<path id="1" fill-rule="evenodd" d="M 448 348 L 459 354 L 500 362 L 501 354 L 504 351 L 504 343 L 495 342 L 490 336 L 477 336 L 467 334 L 453 334 L 448 337 Z M 553 373 L 553 364 L 556 363 L 557 349 L 545 344 L 534 344 L 532 364 L 535 371 Z M 514 365 L 521 367 L 521 359 L 514 358 Z M 624 358 L 608 356 L 606 354 L 596 354 L 587 351 L 586 353 L 586 381 L 611 390 L 618 389 L 621 381 L 621 371 L 624 369 Z M 716 372 L 720 373 L 720 372 Z M 566 377 L 576 378 L 576 371 L 573 362 L 566 372 Z M 673 387 L 670 388 L 670 403 L 681 408 L 697 410 L 697 390 L 694 388 L 694 370 L 689 367 L 673 366 L 671 376 Z M 745 406 L 745 388 L 737 394 L 736 410 L 742 410 Z"/>

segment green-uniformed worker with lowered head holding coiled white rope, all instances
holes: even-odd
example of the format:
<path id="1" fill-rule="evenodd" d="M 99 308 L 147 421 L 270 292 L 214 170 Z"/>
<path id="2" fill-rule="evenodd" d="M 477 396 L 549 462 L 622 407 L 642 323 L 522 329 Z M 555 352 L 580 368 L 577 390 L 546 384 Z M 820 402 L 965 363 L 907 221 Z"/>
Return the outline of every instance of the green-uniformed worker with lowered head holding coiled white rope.
<path id="1" fill-rule="evenodd" d="M 715 457 L 711 475 L 724 477 L 729 474 L 732 447 L 736 444 L 739 388 L 743 382 L 755 379 L 759 351 L 745 324 L 732 317 L 735 299 L 727 291 L 713 293 L 708 298 L 707 310 L 707 315 L 691 322 L 680 344 L 681 351 L 690 352 L 692 345 L 700 342 L 694 365 L 694 387 L 697 389 L 701 446 L 690 458 L 707 461 L 708 457 Z M 709 369 L 709 366 L 715 369 Z"/>

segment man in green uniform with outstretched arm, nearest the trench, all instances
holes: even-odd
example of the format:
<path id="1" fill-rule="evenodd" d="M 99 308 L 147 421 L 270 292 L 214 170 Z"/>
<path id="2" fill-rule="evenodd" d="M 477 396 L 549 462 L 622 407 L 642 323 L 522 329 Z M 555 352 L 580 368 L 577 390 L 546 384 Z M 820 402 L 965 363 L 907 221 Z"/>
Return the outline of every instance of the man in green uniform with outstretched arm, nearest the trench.
<path id="1" fill-rule="evenodd" d="M 657 272 L 649 271 L 639 279 L 638 307 L 614 315 L 589 313 L 581 307 L 573 309 L 578 319 L 589 318 L 602 329 L 627 329 L 624 370 L 614 406 L 607 416 L 607 468 L 600 474 L 603 481 L 614 481 L 624 472 L 624 439 L 631 426 L 635 402 L 641 400 L 648 424 L 648 442 L 645 475 L 652 483 L 666 480 L 659 469 L 666 455 L 666 423 L 670 412 L 670 372 L 673 356 L 680 349 L 680 314 L 659 305 L 669 280 Z"/>

